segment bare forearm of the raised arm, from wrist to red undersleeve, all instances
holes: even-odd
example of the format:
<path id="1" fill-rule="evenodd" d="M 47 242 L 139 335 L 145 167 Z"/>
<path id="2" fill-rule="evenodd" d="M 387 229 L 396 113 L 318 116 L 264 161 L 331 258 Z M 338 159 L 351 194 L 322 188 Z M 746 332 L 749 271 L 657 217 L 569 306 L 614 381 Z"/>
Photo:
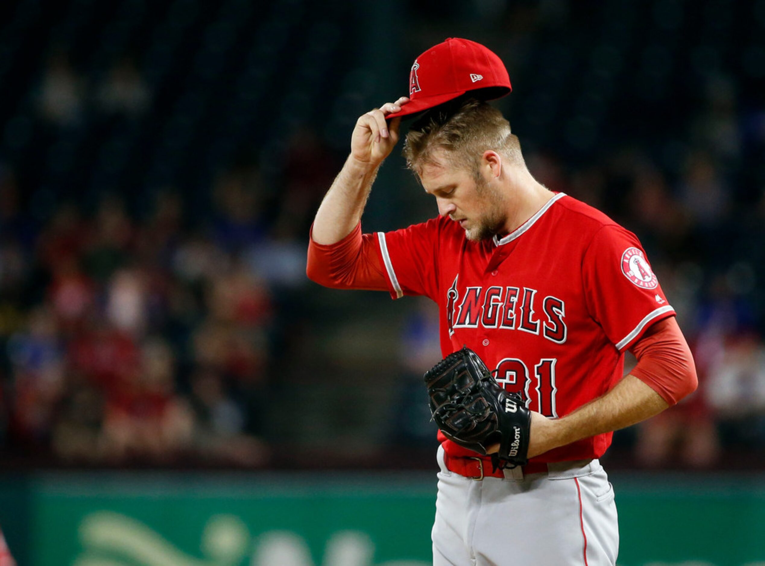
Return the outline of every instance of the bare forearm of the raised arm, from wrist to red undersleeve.
<path id="1" fill-rule="evenodd" d="M 378 169 L 379 165 L 347 158 L 316 213 L 311 233 L 314 242 L 329 246 L 351 233 L 361 220 Z"/>

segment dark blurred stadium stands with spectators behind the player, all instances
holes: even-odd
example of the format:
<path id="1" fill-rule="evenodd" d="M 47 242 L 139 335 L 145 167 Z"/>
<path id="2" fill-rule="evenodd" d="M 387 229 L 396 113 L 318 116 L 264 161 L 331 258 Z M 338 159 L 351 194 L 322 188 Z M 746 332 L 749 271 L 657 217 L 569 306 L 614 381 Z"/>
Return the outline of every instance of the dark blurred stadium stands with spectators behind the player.
<path id="1" fill-rule="evenodd" d="M 617 461 L 765 447 L 765 2 L 393 4 L 387 67 L 342 2 L 0 5 L 5 464 L 430 462 L 437 313 L 304 257 L 356 116 L 450 35 L 503 57 L 532 173 L 640 237 L 692 343 L 699 391 Z M 367 229 L 436 213 L 396 159 Z"/>

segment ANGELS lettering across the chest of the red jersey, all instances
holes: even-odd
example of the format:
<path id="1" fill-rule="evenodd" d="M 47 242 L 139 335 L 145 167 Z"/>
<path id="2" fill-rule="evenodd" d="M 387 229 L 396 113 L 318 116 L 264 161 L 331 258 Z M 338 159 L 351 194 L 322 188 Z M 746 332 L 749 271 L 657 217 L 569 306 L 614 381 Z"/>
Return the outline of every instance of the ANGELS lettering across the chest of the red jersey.
<path id="1" fill-rule="evenodd" d="M 536 289 L 511 285 L 457 288 L 457 278 L 446 292 L 446 322 L 449 336 L 457 328 L 500 328 L 521 330 L 565 343 L 568 327 L 563 321 L 565 303 L 552 295 L 542 298 Z"/>

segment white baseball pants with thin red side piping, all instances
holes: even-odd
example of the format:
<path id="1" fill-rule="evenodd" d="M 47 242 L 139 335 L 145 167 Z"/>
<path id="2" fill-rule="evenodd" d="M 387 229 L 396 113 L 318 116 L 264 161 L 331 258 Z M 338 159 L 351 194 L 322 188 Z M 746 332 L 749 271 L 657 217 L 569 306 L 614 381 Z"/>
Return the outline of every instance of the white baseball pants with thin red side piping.
<path id="1" fill-rule="evenodd" d="M 434 566 L 614 566 L 614 488 L 598 460 L 548 473 L 476 481 L 452 473 L 438 448 Z"/>

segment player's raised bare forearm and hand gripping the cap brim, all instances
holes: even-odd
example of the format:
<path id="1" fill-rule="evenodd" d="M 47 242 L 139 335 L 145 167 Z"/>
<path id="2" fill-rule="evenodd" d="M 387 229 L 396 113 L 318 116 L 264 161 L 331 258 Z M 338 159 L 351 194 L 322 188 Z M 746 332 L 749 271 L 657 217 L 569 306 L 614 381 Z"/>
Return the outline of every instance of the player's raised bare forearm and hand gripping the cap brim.
<path id="1" fill-rule="evenodd" d="M 361 220 L 377 170 L 399 141 L 401 119 L 386 122 L 386 115 L 399 112 L 407 102 L 409 99 L 402 96 L 396 102 L 366 112 L 356 121 L 350 155 L 316 213 L 311 234 L 314 242 L 324 245 L 339 242 Z"/>

